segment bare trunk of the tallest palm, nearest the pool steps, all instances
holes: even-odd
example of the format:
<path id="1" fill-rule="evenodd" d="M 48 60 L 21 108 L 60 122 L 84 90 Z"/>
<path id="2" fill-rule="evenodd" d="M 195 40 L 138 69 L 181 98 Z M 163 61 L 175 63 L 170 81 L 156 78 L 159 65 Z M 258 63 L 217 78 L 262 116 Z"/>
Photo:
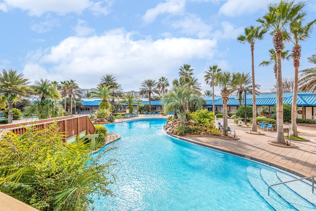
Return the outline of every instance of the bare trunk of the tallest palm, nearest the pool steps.
<path id="1" fill-rule="evenodd" d="M 283 88 L 282 88 L 282 66 L 281 66 L 281 50 L 276 53 L 276 124 L 277 134 L 276 142 L 285 144 L 283 133 Z"/>

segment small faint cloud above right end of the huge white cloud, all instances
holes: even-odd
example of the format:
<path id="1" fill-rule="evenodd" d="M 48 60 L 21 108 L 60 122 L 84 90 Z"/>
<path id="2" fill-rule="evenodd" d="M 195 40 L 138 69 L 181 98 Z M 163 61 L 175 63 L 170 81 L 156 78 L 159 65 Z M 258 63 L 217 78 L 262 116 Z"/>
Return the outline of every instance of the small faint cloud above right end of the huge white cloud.
<path id="1" fill-rule="evenodd" d="M 186 35 L 197 35 L 198 38 L 207 37 L 212 29 L 196 15 L 188 15 L 183 20 L 174 21 L 171 26 L 175 29 L 181 28 L 182 33 Z"/>

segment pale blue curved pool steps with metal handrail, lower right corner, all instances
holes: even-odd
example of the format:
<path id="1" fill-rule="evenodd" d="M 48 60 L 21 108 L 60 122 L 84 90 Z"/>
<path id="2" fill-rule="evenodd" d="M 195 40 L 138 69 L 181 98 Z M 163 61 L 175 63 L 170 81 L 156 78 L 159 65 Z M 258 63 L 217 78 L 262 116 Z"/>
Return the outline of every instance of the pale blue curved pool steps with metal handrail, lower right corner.
<path id="1" fill-rule="evenodd" d="M 274 210 L 316 210 L 316 195 L 312 193 L 311 185 L 306 182 L 297 181 L 276 185 L 268 196 L 269 185 L 289 181 L 294 177 L 282 172 L 254 166 L 249 166 L 246 171 L 251 186 Z"/>

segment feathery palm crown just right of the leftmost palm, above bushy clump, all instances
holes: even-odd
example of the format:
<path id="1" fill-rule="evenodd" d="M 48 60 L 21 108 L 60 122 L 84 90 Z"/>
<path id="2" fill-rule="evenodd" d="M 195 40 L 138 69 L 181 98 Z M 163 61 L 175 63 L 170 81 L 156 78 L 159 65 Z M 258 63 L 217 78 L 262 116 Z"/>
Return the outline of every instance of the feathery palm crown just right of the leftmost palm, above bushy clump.
<path id="1" fill-rule="evenodd" d="M 41 102 L 45 99 L 60 100 L 61 98 L 56 86 L 47 79 L 40 79 L 40 81 L 36 81 L 35 85 L 31 87 L 34 89 L 35 95 L 40 98 Z"/>

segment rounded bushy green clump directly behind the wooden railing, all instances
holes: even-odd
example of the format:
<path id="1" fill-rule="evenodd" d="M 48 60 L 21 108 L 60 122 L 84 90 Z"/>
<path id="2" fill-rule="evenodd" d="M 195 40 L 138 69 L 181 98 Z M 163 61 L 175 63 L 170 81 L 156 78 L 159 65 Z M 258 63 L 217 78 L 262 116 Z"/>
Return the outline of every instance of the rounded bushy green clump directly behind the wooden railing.
<path id="1" fill-rule="evenodd" d="M 24 108 L 24 117 L 30 118 L 33 116 L 37 116 L 40 120 L 61 117 L 64 116 L 64 109 L 58 102 L 53 100 L 36 100 L 32 105 Z"/>

